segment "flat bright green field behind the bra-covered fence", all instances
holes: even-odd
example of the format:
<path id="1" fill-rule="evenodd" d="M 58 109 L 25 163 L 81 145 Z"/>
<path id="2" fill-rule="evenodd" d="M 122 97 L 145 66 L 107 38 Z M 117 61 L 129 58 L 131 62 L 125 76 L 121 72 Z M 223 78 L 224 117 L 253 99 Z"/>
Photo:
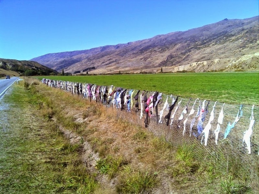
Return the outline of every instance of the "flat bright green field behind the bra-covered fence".
<path id="1" fill-rule="evenodd" d="M 44 76 L 44 78 L 158 91 L 183 98 L 259 105 L 258 72 Z"/>

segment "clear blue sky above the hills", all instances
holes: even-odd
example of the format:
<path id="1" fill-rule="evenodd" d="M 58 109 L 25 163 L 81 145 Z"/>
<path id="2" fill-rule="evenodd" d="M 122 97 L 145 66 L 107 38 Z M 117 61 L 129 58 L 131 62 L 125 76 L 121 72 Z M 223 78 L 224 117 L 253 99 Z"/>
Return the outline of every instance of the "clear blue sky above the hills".
<path id="1" fill-rule="evenodd" d="M 257 15 L 258 0 L 0 0 L 0 58 L 30 60 Z"/>

